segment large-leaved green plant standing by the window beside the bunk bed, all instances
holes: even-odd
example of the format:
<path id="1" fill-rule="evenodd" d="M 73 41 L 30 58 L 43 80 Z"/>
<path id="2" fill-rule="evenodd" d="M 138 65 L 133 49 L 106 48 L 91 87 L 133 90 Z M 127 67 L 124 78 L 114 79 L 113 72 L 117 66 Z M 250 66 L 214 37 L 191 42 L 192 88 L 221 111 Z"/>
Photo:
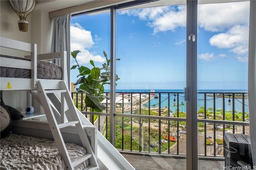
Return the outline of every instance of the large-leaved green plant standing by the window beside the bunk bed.
<path id="1" fill-rule="evenodd" d="M 102 64 L 102 68 L 98 68 L 94 65 L 94 62 L 90 60 L 92 69 L 80 66 L 76 60 L 76 56 L 81 51 L 76 50 L 72 51 L 71 55 L 76 61 L 76 65 L 72 66 L 72 69 L 78 68 L 79 74 L 77 76 L 78 80 L 74 85 L 79 85 L 76 90 L 78 92 L 85 92 L 85 106 L 90 107 L 90 111 L 102 112 L 106 109 L 106 106 L 101 104 L 101 102 L 108 96 L 104 95 L 104 84 L 110 84 L 110 59 L 105 51 L 103 51 L 106 58 L 106 63 Z M 117 61 L 120 59 L 116 59 Z M 118 75 L 116 74 L 116 80 L 119 80 Z"/>

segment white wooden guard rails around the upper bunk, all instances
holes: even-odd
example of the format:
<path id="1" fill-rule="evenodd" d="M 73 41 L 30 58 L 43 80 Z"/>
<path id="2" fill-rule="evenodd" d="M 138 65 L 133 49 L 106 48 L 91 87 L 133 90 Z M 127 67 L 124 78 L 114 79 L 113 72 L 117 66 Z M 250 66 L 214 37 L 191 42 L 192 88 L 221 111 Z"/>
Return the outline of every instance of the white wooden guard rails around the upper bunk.
<path id="1" fill-rule="evenodd" d="M 61 51 L 58 53 L 47 53 L 37 55 L 37 45 L 25 43 L 22 41 L 17 41 L 14 39 L 8 39 L 5 37 L 0 37 L 0 46 L 9 49 L 16 49 L 20 51 L 26 51 L 31 53 L 25 58 L 29 58 L 31 61 L 22 61 L 10 58 L 1 57 L 0 66 L 11 67 L 11 68 L 24 68 L 31 70 L 31 78 L 7 78 L 1 77 L 0 80 L 0 90 L 36 90 L 37 78 L 37 61 L 38 60 L 52 60 L 60 59 L 60 67 L 62 68 L 62 80 L 68 82 L 67 76 L 67 53 L 66 51 Z M 47 89 L 58 89 L 59 82 L 62 80 L 49 80 L 40 79 L 44 83 Z"/>

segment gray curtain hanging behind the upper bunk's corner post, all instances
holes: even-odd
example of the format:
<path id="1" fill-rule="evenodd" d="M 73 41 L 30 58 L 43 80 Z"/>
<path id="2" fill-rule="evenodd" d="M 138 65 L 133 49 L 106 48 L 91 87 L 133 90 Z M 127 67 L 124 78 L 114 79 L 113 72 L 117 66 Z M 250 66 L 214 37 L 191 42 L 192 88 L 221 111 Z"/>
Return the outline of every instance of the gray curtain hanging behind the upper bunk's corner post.
<path id="1" fill-rule="evenodd" d="M 67 52 L 68 86 L 70 88 L 70 20 L 71 14 L 53 18 L 51 52 Z M 59 64 L 59 61 L 54 61 Z"/>

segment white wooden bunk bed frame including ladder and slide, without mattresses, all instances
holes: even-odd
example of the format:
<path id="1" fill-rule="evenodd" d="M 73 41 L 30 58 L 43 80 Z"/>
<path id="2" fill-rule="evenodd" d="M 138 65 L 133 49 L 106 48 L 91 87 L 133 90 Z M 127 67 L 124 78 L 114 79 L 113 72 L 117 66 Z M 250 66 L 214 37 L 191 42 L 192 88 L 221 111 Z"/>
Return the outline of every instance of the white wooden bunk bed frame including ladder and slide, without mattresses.
<path id="1" fill-rule="evenodd" d="M 31 96 L 33 96 L 33 98 L 41 104 L 45 113 L 51 112 L 51 114 L 46 115 L 44 113 L 25 115 L 23 120 L 12 121 L 12 133 L 38 138 L 45 138 L 55 141 L 56 136 L 57 138 L 60 138 L 61 136 L 65 143 L 74 143 L 80 146 L 84 145 L 86 151 L 89 154 L 91 154 L 89 158 L 90 166 L 88 166 L 86 170 L 93 170 L 99 168 L 104 170 L 135 170 L 135 168 L 122 156 L 122 154 L 120 154 L 118 150 L 116 150 L 115 147 L 111 145 L 111 143 L 99 131 L 97 131 L 97 127 L 94 127 L 92 123 L 90 123 L 90 121 L 88 121 L 88 119 L 84 117 L 84 115 L 77 108 L 74 107 L 73 101 L 72 104 L 71 102 L 64 102 L 65 100 L 71 99 L 70 92 L 68 92 L 67 84 L 65 83 L 68 82 L 66 69 L 66 52 L 63 51 L 60 53 L 36 55 L 36 44 L 24 43 L 21 41 L 7 39 L 4 37 L 0 37 L 0 46 L 7 47 L 10 49 L 18 49 L 21 51 L 28 51 L 31 53 L 30 56 L 26 56 L 26 58 L 31 59 L 30 62 L 25 62 L 26 64 L 17 64 L 16 61 L 14 61 L 14 59 L 1 59 L 1 66 L 10 66 L 16 68 L 25 67 L 32 70 L 31 78 L 1 77 L 0 90 L 27 90 L 28 93 L 31 94 L 28 95 L 28 103 L 31 102 Z M 47 80 L 36 78 L 37 60 L 48 60 L 58 58 L 61 59 L 61 67 L 63 74 L 62 80 Z M 10 82 L 11 88 L 8 87 L 8 82 Z M 44 91 L 44 94 L 38 95 L 40 91 Z M 46 94 L 46 91 L 52 91 L 52 93 Z M 61 95 L 57 95 L 61 96 L 61 99 L 60 97 L 56 96 L 55 92 L 61 93 Z M 48 101 L 46 98 L 50 98 L 50 101 Z M 69 108 L 68 110 L 66 110 L 67 105 Z M 70 111 L 70 108 L 73 109 L 72 112 Z M 70 118 L 70 116 L 67 116 L 70 114 L 65 115 L 65 112 L 77 113 L 74 115 L 76 115 L 75 118 L 78 119 L 79 124 L 82 128 L 76 128 L 74 125 L 68 126 L 70 123 L 67 122 L 67 119 L 74 119 L 74 117 Z M 49 115 L 52 115 L 52 117 L 48 118 L 47 115 L 48 117 Z M 75 121 L 72 121 L 72 123 L 74 122 Z M 56 127 L 58 126 L 58 123 L 62 124 L 61 126 L 64 126 L 64 128 L 60 129 L 62 133 L 61 135 L 56 134 L 56 131 L 52 132 L 52 124 L 55 124 L 54 128 L 59 129 L 58 127 Z M 81 129 L 83 130 L 81 131 Z M 86 135 L 82 135 L 81 137 L 81 134 Z M 62 145 L 61 140 L 59 140 L 57 143 L 60 143 Z M 62 148 L 59 150 L 65 149 Z M 67 166 L 67 164 L 70 164 L 70 161 L 67 160 L 68 158 L 65 153 L 63 155 L 63 157 L 66 157 L 65 164 Z M 78 164 L 78 162 L 74 163 L 75 165 Z M 73 169 L 73 165 L 70 165 L 70 167 L 72 167 L 71 169 Z"/>

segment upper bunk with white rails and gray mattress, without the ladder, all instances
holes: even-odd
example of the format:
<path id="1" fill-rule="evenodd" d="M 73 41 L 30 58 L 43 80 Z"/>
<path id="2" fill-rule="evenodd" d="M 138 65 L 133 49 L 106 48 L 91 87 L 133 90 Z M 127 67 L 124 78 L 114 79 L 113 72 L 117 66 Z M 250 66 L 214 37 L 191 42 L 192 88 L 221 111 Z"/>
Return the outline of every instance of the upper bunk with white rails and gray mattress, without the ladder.
<path id="1" fill-rule="evenodd" d="M 56 89 L 58 88 L 58 82 L 64 80 L 67 82 L 67 67 L 66 67 L 66 51 L 58 52 L 58 53 L 48 53 L 37 55 L 37 47 L 36 44 L 24 43 L 21 41 L 16 41 L 13 39 L 8 39 L 5 37 L 1 37 L 1 47 L 17 49 L 20 51 L 30 52 L 30 56 L 24 57 L 10 57 L 8 55 L 1 55 L 1 89 L 0 90 L 36 90 L 36 81 L 42 80 L 45 84 L 45 88 L 48 89 Z M 56 66 L 56 64 L 46 62 L 44 60 L 53 60 L 60 59 L 61 64 L 60 67 Z M 37 69 L 37 65 L 40 68 Z M 45 65 L 48 65 L 48 68 L 55 68 L 55 70 L 59 70 L 59 74 L 62 74 L 60 77 L 59 74 L 56 78 L 44 79 L 43 75 L 40 76 L 38 73 L 43 74 L 45 70 Z M 6 68 L 16 69 L 16 71 L 8 71 Z M 38 70 L 40 70 L 38 72 Z M 30 74 L 29 76 L 26 74 L 25 77 L 18 77 L 14 74 L 7 74 L 6 72 L 18 72 L 18 70 L 25 70 L 25 72 Z M 55 71 L 54 70 L 54 71 Z M 6 74 L 4 74 L 6 73 Z M 2 77 L 4 74 L 5 77 Z M 19 74 L 18 74 L 19 75 Z M 49 75 L 49 74 L 47 74 Z M 8 77 L 11 76 L 11 77 Z M 40 76 L 38 78 L 38 76 Z M 49 77 L 49 76 L 48 76 Z M 17 83 L 18 82 L 18 83 Z"/>

